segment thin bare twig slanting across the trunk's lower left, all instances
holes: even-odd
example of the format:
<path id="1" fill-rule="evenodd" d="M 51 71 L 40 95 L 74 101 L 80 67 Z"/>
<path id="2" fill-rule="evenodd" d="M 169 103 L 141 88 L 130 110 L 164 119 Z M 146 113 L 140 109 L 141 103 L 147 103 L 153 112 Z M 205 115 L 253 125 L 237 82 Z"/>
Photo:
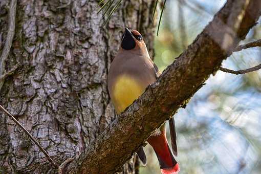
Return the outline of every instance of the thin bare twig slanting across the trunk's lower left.
<path id="1" fill-rule="evenodd" d="M 37 142 L 37 140 L 28 132 L 28 130 L 21 125 L 21 123 L 19 123 L 19 121 L 17 121 L 14 116 L 12 114 L 10 114 L 1 104 L 0 104 L 0 109 L 2 111 L 4 111 L 21 129 L 24 130 L 24 132 L 31 138 L 31 140 L 39 147 L 39 149 L 42 151 L 42 153 L 45 154 L 45 156 L 47 157 L 48 161 L 50 161 L 50 163 L 52 163 L 52 165 L 54 165 L 56 168 L 59 168 L 59 166 L 53 161 L 53 159 L 50 157 L 50 155 L 48 154 L 48 152 L 41 147 L 41 145 Z"/>

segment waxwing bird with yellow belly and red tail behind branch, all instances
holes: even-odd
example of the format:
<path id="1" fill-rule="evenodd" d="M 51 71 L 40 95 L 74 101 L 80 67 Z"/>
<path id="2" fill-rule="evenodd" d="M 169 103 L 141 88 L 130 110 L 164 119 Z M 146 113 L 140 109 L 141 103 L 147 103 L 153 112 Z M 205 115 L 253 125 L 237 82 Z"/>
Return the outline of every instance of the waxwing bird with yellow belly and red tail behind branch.
<path id="1" fill-rule="evenodd" d="M 120 114 L 145 91 L 147 86 L 157 80 L 160 71 L 151 60 L 142 35 L 137 30 L 125 31 L 121 37 L 119 50 L 113 59 L 107 76 L 107 87 L 116 113 Z M 147 142 L 158 158 L 161 173 L 176 174 L 179 164 L 177 156 L 177 135 L 174 118 L 169 119 L 171 147 L 166 138 L 165 123 L 153 133 Z M 136 151 L 139 159 L 146 165 L 146 154 L 143 147 Z"/>

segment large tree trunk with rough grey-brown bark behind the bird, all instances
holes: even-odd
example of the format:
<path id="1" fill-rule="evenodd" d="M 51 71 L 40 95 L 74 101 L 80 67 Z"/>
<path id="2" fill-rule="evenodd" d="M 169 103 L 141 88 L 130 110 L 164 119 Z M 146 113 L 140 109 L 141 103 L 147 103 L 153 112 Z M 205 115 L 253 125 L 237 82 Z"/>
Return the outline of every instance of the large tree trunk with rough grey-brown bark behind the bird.
<path id="1" fill-rule="evenodd" d="M 9 2 L 0 3 L 0 55 Z M 123 1 L 103 27 L 97 2 L 17 2 L 15 36 L 4 72 L 20 66 L 5 79 L 0 103 L 58 164 L 80 154 L 116 118 L 106 77 L 125 27 L 143 34 L 153 57 L 155 1 Z M 2 112 L 0 125 L 0 173 L 57 172 Z M 131 158 L 122 172 L 135 173 L 136 159 Z M 38 167 L 40 163 L 46 167 Z"/>

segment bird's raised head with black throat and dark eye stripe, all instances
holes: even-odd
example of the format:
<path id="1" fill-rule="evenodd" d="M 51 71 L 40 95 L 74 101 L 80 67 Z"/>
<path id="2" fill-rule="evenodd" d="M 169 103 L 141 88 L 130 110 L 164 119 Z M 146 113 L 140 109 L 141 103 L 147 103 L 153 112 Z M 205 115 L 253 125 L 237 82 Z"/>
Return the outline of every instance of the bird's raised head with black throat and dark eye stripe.
<path id="1" fill-rule="evenodd" d="M 127 28 L 125 28 L 121 38 L 121 49 L 147 51 L 141 34 L 137 30 L 129 30 Z"/>

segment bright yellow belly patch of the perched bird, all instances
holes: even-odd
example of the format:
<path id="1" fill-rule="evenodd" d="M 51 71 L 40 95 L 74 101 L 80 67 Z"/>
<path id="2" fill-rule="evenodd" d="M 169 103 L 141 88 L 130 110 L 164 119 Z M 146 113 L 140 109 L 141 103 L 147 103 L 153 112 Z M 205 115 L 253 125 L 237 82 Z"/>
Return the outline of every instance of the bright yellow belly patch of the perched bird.
<path id="1" fill-rule="evenodd" d="M 144 87 L 130 76 L 121 75 L 118 77 L 113 87 L 113 102 L 116 112 L 118 114 L 123 112 L 144 92 L 145 88 L 146 86 Z"/>

